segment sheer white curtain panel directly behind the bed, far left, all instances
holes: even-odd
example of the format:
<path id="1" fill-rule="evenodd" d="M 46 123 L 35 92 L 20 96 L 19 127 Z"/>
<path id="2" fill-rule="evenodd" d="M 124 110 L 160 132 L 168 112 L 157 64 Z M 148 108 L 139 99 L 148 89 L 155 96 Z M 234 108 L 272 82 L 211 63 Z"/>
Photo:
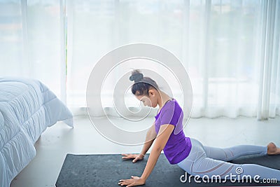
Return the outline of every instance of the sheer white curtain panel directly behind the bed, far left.
<path id="1" fill-rule="evenodd" d="M 66 99 L 63 1 L 0 1 L 0 76 L 36 78 Z"/>

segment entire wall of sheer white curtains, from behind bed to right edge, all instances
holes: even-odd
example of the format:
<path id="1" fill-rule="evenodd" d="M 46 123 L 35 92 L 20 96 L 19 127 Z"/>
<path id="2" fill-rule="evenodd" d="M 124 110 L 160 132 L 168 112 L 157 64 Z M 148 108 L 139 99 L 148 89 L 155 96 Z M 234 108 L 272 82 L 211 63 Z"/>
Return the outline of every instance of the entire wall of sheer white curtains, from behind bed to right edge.
<path id="1" fill-rule="evenodd" d="M 274 118 L 280 115 L 279 17 L 279 0 L 1 1 L 0 75 L 38 78 L 74 114 L 85 114 L 94 64 L 118 46 L 151 43 L 186 67 L 191 117 Z M 113 78 L 120 76 L 118 70 Z M 113 108 L 111 97 L 104 103 Z M 127 105 L 136 104 L 130 95 Z"/>

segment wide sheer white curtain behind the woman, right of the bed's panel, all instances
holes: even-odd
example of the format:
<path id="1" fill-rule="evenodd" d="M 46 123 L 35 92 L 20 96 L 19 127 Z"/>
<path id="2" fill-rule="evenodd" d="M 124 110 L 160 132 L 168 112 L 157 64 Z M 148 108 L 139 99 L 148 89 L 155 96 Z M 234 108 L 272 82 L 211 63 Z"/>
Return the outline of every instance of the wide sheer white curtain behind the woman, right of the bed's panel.
<path id="1" fill-rule="evenodd" d="M 151 43 L 186 67 L 193 118 L 279 115 L 279 9 L 279 1 L 69 0 L 68 104 L 85 106 L 87 78 L 103 55 Z"/>

